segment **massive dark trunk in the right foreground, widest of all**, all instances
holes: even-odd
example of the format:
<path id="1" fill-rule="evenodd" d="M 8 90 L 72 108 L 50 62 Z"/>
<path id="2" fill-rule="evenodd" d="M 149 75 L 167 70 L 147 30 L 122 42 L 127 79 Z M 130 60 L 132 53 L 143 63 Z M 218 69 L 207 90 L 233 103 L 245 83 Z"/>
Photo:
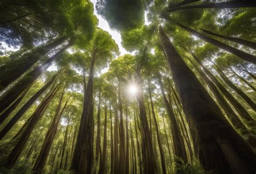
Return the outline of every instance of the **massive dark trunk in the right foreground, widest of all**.
<path id="1" fill-rule="evenodd" d="M 181 59 L 163 28 L 159 32 L 190 128 L 196 130 L 194 144 L 200 144 L 201 164 L 206 170 L 217 169 L 221 173 L 253 173 L 256 170 L 255 152 L 224 118 L 217 104 Z"/>

